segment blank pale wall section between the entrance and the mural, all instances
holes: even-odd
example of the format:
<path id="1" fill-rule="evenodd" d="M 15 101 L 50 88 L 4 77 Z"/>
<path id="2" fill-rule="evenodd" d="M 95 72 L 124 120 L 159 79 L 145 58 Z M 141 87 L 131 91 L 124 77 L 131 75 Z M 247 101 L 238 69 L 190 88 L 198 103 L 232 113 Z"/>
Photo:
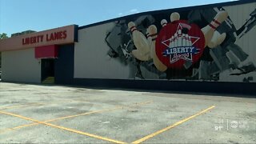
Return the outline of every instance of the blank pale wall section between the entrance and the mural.
<path id="1" fill-rule="evenodd" d="M 130 66 L 124 66 L 107 55 L 107 30 L 114 23 L 106 23 L 78 30 L 78 43 L 74 45 L 74 78 L 129 78 Z"/>

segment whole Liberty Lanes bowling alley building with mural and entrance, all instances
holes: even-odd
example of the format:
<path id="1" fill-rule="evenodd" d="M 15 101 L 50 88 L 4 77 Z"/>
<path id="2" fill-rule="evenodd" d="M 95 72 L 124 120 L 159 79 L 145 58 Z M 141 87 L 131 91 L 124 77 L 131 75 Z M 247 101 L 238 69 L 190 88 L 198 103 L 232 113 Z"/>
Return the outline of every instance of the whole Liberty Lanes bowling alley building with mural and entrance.
<path id="1" fill-rule="evenodd" d="M 134 22 L 132 28 L 129 22 Z M 256 2 L 248 0 L 156 10 L 88 26 L 27 30 L 0 40 L 1 78 L 256 94 L 255 25 Z"/>

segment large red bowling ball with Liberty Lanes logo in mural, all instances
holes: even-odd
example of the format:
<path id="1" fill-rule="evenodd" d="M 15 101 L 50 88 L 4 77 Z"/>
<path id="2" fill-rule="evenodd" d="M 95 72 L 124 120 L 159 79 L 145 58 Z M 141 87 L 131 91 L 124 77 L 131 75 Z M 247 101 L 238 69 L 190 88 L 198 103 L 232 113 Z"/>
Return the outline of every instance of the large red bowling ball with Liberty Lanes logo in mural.
<path id="1" fill-rule="evenodd" d="M 155 45 L 159 60 L 174 69 L 185 68 L 186 62 L 192 65 L 198 62 L 204 47 L 202 30 L 186 20 L 174 21 L 162 27 Z"/>

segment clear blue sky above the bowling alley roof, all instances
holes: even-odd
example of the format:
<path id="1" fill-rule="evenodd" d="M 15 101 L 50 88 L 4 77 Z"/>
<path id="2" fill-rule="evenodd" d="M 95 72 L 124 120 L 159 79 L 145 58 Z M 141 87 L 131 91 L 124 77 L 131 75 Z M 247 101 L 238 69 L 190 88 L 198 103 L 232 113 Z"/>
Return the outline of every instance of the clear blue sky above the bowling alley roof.
<path id="1" fill-rule="evenodd" d="M 0 34 L 85 26 L 152 10 L 166 10 L 230 0 L 0 0 Z"/>

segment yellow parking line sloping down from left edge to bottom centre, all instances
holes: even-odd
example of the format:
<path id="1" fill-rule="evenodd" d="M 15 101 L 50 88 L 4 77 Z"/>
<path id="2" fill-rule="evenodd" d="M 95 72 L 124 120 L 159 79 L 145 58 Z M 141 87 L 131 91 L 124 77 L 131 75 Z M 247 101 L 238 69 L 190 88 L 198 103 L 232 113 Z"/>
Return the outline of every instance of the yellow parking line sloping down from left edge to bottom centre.
<path id="1" fill-rule="evenodd" d="M 76 133 L 76 134 L 82 134 L 82 135 L 86 135 L 86 136 L 89 136 L 89 137 L 92 137 L 92 138 L 98 138 L 98 139 L 101 139 L 101 140 L 104 140 L 104 141 L 108 141 L 108 142 L 126 143 L 126 142 L 121 142 L 121 141 L 117 141 L 117 140 L 110 139 L 110 138 L 101 137 L 101 136 L 98 136 L 98 135 L 95 135 L 95 134 L 90 134 L 90 133 L 82 132 L 82 131 L 79 131 L 79 130 L 74 130 L 74 129 L 66 128 L 66 127 L 63 127 L 63 126 L 57 126 L 57 125 L 54 125 L 54 124 L 51 124 L 51 123 L 47 123 L 47 122 L 40 122 L 40 121 L 38 121 L 36 119 L 27 118 L 27 117 L 24 117 L 24 116 L 18 115 L 18 114 L 12 114 L 12 113 L 8 113 L 8 112 L 4 112 L 4 111 L 0 111 L 0 113 L 11 115 L 11 116 L 22 118 L 22 119 L 26 119 L 26 120 L 33 121 L 33 122 L 38 122 L 40 124 L 43 124 L 43 125 L 46 125 L 46 126 L 52 126 L 54 128 L 58 128 L 58 129 L 61 129 L 61 130 L 67 130 L 67 131 L 70 131 L 70 132 L 73 132 L 73 133 Z"/>

